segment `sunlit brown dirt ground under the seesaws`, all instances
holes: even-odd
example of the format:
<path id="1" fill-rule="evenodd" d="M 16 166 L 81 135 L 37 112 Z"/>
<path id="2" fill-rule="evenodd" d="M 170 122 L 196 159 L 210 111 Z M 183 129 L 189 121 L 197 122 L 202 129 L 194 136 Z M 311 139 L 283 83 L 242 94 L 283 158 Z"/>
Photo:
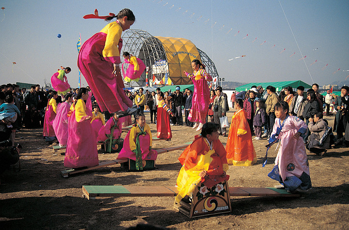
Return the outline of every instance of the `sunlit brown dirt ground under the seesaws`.
<path id="1" fill-rule="evenodd" d="M 232 111 L 228 112 L 230 121 Z M 156 125 L 147 123 L 156 136 Z M 333 126 L 334 117 L 325 117 Z M 181 145 L 196 132 L 172 126 L 170 142 L 156 141 L 154 148 Z M 122 136 L 126 136 L 123 132 Z M 225 146 L 227 138 L 220 137 Z M 324 156 L 308 152 L 313 189 L 302 198 L 234 197 L 232 213 L 190 220 L 173 209 L 174 197 L 82 198 L 82 185 L 175 185 L 183 150 L 163 153 L 157 169 L 126 172 L 119 165 L 63 178 L 63 157 L 42 139 L 42 129 L 22 129 L 16 143 L 23 146 L 19 172 L 4 172 L 0 184 L 1 229 L 125 229 L 149 223 L 175 229 L 349 229 L 349 150 L 336 148 Z M 262 168 L 267 140 L 254 140 L 257 163 L 233 167 L 229 186 L 270 187 L 278 184 L 267 174 L 274 165 L 275 147 Z M 99 160 L 117 154 L 99 154 Z"/>

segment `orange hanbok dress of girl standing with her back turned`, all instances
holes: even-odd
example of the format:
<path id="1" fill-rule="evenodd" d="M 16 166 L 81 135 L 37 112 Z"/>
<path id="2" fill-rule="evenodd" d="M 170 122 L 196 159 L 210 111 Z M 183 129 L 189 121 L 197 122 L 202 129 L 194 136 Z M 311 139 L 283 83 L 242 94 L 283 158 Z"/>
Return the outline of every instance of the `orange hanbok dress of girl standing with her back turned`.
<path id="1" fill-rule="evenodd" d="M 225 150 L 229 165 L 252 166 L 257 162 L 247 114 L 243 109 L 235 112 L 232 117 Z"/>

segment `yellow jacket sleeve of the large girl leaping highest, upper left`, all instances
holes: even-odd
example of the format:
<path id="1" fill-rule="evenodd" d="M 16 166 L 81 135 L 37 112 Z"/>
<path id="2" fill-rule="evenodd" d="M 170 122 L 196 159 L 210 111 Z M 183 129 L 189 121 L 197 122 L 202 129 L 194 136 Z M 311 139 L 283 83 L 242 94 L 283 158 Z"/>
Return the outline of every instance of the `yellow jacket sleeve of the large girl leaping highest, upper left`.
<path id="1" fill-rule="evenodd" d="M 119 52 L 119 40 L 121 38 L 122 28 L 117 22 L 108 24 L 101 30 L 107 34 L 106 42 L 103 49 L 103 57 L 119 57 L 119 62 L 114 62 L 115 60 L 110 60 L 113 63 L 121 63 L 120 52 Z M 109 61 L 109 60 L 108 60 Z"/>

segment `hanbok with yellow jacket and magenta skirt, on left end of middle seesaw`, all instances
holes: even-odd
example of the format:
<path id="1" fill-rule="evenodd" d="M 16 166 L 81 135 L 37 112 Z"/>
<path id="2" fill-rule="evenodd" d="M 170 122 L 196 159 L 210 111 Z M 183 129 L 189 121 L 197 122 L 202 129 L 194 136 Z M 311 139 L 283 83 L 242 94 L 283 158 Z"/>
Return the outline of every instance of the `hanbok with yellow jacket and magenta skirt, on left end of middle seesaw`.
<path id="1" fill-rule="evenodd" d="M 86 120 L 86 106 L 82 99 L 73 103 L 68 122 L 68 143 L 65 150 L 64 167 L 80 168 L 98 165 L 95 135 L 90 120 Z"/>

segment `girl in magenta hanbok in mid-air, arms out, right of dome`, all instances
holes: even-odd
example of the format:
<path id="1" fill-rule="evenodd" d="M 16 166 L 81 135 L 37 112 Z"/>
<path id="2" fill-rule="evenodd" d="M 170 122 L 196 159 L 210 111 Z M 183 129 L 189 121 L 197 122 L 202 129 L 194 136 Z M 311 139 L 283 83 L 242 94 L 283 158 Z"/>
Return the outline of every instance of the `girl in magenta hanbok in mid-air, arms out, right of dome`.
<path id="1" fill-rule="evenodd" d="M 206 72 L 205 66 L 197 59 L 191 61 L 191 67 L 194 71 L 192 74 L 183 71 L 183 74 L 189 77 L 194 84 L 192 106 L 188 120 L 195 122 L 192 128 L 197 128 L 196 131 L 199 131 L 206 123 L 206 115 L 210 103 L 207 81 L 212 81 L 212 77 Z"/>

